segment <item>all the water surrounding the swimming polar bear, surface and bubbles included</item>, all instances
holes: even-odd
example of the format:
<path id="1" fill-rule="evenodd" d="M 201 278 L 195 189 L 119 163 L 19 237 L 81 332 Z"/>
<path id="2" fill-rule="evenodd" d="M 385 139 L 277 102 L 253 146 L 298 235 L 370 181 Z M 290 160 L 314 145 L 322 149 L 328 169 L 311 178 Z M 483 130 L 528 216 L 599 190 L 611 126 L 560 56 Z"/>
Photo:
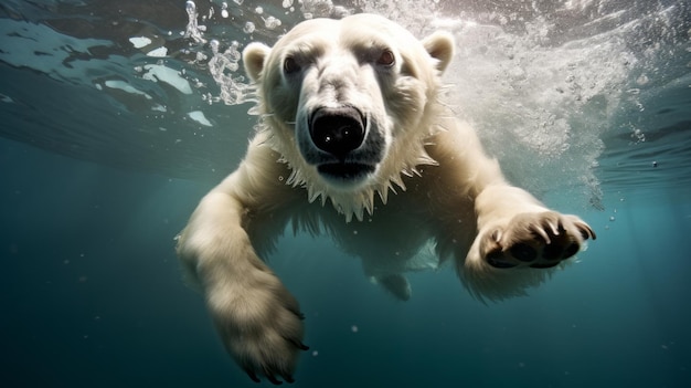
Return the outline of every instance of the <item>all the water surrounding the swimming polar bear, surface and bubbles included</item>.
<path id="1" fill-rule="evenodd" d="M 257 386 L 173 238 L 253 133 L 242 48 L 361 11 L 453 32 L 449 104 L 512 182 L 598 239 L 486 305 L 450 266 L 397 302 L 328 239 L 288 232 L 266 259 L 306 315 L 296 386 L 691 386 L 682 0 L 2 1 L 0 386 Z"/>

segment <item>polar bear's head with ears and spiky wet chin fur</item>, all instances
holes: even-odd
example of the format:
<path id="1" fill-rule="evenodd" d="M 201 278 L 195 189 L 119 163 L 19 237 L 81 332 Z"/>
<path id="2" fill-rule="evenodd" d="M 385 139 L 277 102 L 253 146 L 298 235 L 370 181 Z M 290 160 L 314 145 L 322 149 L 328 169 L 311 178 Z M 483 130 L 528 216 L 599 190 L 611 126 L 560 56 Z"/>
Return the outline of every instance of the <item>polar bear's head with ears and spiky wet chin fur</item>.
<path id="1" fill-rule="evenodd" d="M 453 52 L 446 33 L 419 41 L 387 19 L 355 14 L 305 21 L 273 48 L 251 43 L 243 61 L 289 182 L 362 218 L 374 192 L 386 201 L 401 174 L 434 164 L 424 143 Z"/>

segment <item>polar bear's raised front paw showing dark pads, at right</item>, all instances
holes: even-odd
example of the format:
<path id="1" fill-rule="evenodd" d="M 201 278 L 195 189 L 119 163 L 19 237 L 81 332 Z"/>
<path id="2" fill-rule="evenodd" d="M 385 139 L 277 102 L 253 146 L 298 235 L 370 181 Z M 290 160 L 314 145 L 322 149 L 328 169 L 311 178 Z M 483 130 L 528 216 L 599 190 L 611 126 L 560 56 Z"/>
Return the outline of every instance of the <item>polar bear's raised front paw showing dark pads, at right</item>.
<path id="1" fill-rule="evenodd" d="M 475 207 L 478 234 L 459 273 L 480 297 L 524 294 L 544 281 L 544 269 L 572 258 L 585 240 L 596 238 L 578 217 L 552 211 L 509 185 L 489 186 Z"/>

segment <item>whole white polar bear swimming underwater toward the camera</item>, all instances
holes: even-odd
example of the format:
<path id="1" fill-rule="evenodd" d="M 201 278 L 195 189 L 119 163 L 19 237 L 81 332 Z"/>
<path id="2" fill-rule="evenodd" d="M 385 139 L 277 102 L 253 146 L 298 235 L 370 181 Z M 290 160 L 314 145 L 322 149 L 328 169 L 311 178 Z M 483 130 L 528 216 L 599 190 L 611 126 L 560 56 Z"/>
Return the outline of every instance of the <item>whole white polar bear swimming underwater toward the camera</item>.
<path id="1" fill-rule="evenodd" d="M 421 41 L 372 14 L 308 20 L 273 48 L 244 50 L 257 132 L 194 210 L 178 254 L 253 380 L 293 382 L 307 349 L 298 302 L 262 260 L 287 226 L 329 234 L 401 300 L 425 247 L 476 297 L 501 300 L 595 239 L 509 185 L 454 117 L 440 80 L 453 56 L 451 35 Z"/>

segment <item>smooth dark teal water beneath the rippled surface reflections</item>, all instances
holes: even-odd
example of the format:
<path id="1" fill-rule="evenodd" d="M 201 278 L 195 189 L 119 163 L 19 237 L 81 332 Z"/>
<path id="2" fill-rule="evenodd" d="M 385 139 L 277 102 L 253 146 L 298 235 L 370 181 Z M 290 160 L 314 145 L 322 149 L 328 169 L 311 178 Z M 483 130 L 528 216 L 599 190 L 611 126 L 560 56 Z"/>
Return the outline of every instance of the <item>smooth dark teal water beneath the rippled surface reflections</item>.
<path id="1" fill-rule="evenodd" d="M 3 386 L 255 386 L 177 266 L 172 238 L 203 185 L 0 147 Z M 691 202 L 665 196 L 617 199 L 614 221 L 583 213 L 598 240 L 582 262 L 490 305 L 448 269 L 413 275 L 396 302 L 329 241 L 284 238 L 270 262 L 311 347 L 298 385 L 685 386 Z"/>

